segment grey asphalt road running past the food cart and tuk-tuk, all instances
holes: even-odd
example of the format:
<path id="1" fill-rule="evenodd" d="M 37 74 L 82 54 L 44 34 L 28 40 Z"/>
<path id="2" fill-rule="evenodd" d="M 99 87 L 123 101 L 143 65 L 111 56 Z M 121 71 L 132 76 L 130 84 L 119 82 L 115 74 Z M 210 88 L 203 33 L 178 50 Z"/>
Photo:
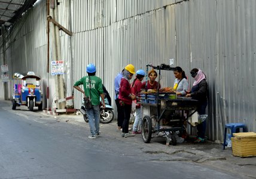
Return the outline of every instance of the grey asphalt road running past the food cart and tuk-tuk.
<path id="1" fill-rule="evenodd" d="M 89 134 L 0 101 L 0 178 L 239 178 L 190 161 L 161 161 L 126 142 L 132 137 Z"/>

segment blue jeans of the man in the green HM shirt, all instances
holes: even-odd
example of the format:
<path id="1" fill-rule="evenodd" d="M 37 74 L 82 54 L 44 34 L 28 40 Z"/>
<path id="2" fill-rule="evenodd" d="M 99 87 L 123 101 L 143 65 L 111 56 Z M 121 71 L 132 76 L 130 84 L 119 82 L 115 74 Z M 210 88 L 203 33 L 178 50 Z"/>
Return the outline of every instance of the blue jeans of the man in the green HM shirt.
<path id="1" fill-rule="evenodd" d="M 99 133 L 99 105 L 86 110 L 92 135 Z"/>

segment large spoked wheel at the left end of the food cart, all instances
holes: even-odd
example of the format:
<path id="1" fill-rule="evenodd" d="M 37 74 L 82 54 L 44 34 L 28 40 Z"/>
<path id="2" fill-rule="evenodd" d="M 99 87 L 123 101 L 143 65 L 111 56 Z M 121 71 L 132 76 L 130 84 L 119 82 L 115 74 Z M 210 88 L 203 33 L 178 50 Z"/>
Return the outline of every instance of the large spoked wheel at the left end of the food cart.
<path id="1" fill-rule="evenodd" d="M 142 139 L 144 143 L 150 143 L 151 135 L 152 135 L 152 122 L 150 116 L 144 116 L 142 119 Z"/>

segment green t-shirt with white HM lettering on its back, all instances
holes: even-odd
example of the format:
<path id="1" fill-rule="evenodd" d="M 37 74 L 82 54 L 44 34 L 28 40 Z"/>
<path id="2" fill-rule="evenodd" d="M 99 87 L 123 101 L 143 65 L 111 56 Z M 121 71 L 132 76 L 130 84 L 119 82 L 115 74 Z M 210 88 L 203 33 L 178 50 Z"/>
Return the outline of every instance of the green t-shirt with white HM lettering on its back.
<path id="1" fill-rule="evenodd" d="M 94 106 L 99 105 L 100 103 L 100 94 L 103 94 L 102 89 L 102 80 L 97 76 L 90 76 L 91 79 L 91 97 L 92 98 L 92 104 Z M 90 82 L 89 82 L 89 76 L 84 76 L 77 82 L 75 82 L 74 86 L 84 85 L 84 92 L 86 93 L 86 96 L 90 96 Z"/>

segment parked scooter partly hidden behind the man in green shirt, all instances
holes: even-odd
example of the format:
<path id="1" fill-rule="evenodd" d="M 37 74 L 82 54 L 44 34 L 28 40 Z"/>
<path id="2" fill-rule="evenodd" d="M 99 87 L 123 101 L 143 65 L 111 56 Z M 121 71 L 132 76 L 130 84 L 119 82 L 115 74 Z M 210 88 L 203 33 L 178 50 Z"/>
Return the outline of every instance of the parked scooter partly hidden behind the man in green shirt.
<path id="1" fill-rule="evenodd" d="M 113 112 L 113 107 L 111 106 L 111 97 L 108 94 L 108 91 L 106 91 L 106 88 L 102 85 L 103 91 L 104 91 L 104 101 L 105 101 L 105 109 L 102 107 L 102 100 L 100 98 L 100 109 L 99 109 L 99 118 L 100 122 L 103 124 L 108 124 L 114 119 L 114 112 Z M 84 116 L 84 121 L 89 122 L 89 119 L 87 118 L 86 115 L 86 109 L 84 107 L 84 100 L 82 100 L 82 105 L 80 112 Z"/>

